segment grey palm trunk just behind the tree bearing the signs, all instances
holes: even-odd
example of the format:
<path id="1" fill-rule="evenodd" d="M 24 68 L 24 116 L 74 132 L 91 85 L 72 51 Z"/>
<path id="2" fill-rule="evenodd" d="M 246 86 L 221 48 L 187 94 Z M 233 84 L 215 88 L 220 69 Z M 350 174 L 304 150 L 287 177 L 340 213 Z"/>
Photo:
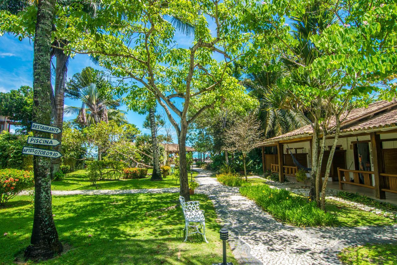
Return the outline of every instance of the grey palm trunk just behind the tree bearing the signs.
<path id="1" fill-rule="evenodd" d="M 61 42 L 62 43 L 62 42 Z M 61 44 L 64 47 L 64 44 Z M 54 93 L 54 103 L 55 103 L 55 117 L 54 126 L 62 130 L 64 123 L 64 103 L 65 103 L 65 82 L 66 82 L 66 63 L 67 56 L 64 51 L 57 49 L 56 51 L 56 74 L 55 74 L 55 93 Z M 59 142 L 62 142 L 62 132 L 55 134 L 54 138 Z M 54 146 L 54 150 L 61 152 L 61 144 Z M 51 161 L 52 174 L 60 170 L 61 158 L 54 158 Z"/>

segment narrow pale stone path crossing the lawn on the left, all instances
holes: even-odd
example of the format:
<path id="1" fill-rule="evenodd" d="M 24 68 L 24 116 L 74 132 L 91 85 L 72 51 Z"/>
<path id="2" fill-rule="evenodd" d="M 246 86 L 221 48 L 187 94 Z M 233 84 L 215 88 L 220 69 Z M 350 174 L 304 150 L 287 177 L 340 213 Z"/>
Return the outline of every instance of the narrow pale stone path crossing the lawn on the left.
<path id="1" fill-rule="evenodd" d="M 161 189 L 84 189 L 75 191 L 58 191 L 52 190 L 52 195 L 116 195 L 132 193 L 179 193 L 179 188 L 161 188 Z M 27 195 L 29 191 L 23 191 L 20 195 Z"/>

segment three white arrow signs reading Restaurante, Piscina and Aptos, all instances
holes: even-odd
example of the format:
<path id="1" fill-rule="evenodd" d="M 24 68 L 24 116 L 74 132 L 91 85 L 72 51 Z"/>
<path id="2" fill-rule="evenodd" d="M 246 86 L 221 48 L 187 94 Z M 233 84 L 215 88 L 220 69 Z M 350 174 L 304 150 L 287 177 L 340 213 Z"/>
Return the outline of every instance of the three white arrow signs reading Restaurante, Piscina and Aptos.
<path id="1" fill-rule="evenodd" d="M 58 127 L 40 124 L 40 123 L 32 123 L 31 129 L 35 131 L 41 131 L 41 132 L 53 133 L 53 134 L 62 132 L 62 130 L 59 129 Z M 58 144 L 60 144 L 60 142 L 56 139 L 32 137 L 32 136 L 29 136 L 27 138 L 27 143 L 47 145 L 47 146 L 57 146 Z M 31 154 L 34 156 L 46 156 L 50 158 L 60 158 L 62 156 L 62 154 L 58 151 L 35 148 L 30 146 L 23 146 L 22 154 Z"/>

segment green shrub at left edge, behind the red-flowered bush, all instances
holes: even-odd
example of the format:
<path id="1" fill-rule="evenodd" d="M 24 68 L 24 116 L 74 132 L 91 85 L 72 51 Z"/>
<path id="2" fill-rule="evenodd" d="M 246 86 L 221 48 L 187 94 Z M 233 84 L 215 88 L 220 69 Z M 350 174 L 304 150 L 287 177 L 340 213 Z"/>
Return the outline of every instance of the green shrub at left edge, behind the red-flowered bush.
<path id="1" fill-rule="evenodd" d="M 0 133 L 0 169 L 33 170 L 33 156 L 22 154 L 27 135 Z"/>

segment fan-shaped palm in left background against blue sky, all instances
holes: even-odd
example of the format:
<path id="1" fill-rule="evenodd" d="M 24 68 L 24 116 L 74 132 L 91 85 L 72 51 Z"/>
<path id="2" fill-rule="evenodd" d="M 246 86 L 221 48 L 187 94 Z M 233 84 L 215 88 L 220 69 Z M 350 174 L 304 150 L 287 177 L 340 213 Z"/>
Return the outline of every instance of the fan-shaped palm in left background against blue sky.
<path id="1" fill-rule="evenodd" d="M 81 73 L 73 75 L 67 85 L 67 97 L 80 100 L 82 104 L 81 107 L 67 106 L 64 113 L 77 114 L 75 121 L 78 124 L 88 126 L 109 120 L 118 125 L 127 123 L 126 111 L 117 109 L 121 105 L 121 99 L 101 92 L 110 84 L 104 80 L 100 71 L 86 67 Z"/>

